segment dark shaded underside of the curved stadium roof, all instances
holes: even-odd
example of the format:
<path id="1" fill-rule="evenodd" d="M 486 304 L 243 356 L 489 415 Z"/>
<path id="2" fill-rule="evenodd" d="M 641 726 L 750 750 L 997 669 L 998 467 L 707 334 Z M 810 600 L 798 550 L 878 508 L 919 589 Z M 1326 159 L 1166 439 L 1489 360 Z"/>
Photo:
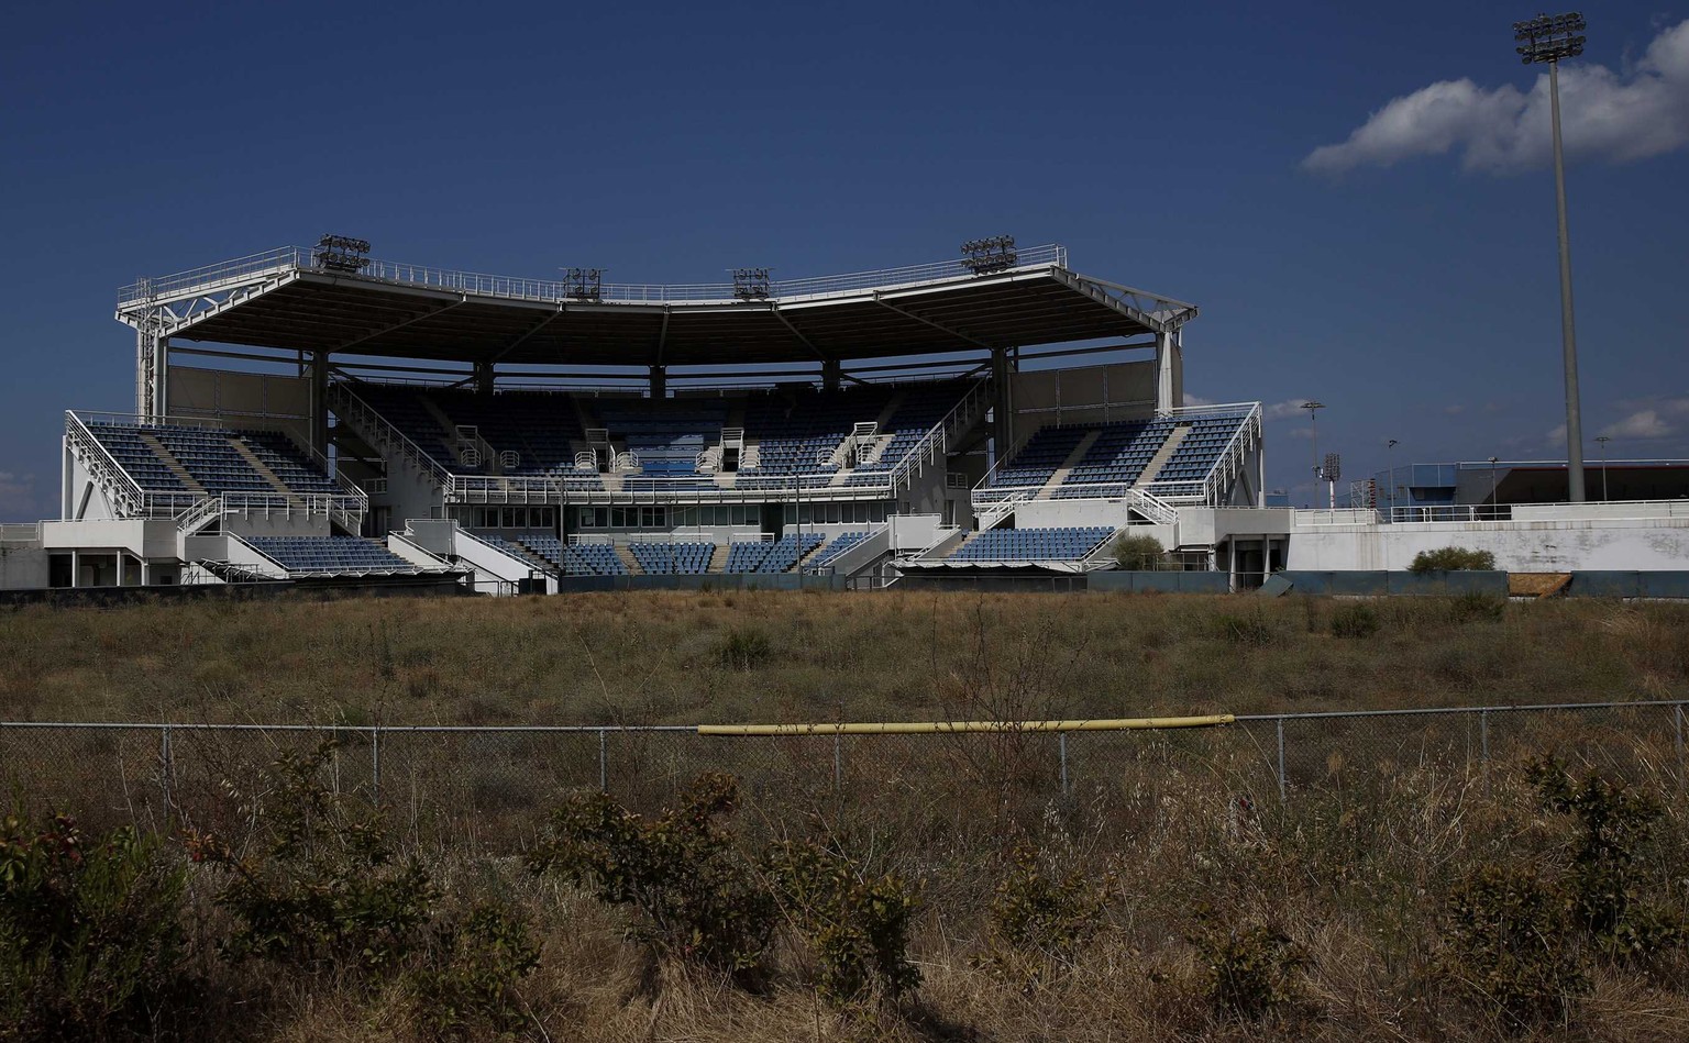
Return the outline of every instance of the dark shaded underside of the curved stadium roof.
<path id="1" fill-rule="evenodd" d="M 814 300 L 507 300 L 301 272 L 177 341 L 544 366 L 817 363 L 1130 338 L 1154 329 L 1059 268 Z"/>

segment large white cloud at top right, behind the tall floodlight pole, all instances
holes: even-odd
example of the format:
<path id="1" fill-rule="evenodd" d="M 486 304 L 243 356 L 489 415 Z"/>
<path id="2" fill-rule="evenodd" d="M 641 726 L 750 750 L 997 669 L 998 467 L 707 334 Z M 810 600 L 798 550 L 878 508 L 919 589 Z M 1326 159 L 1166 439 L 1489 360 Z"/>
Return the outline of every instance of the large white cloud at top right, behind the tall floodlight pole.
<path id="1" fill-rule="evenodd" d="M 1561 125 L 1574 159 L 1623 164 L 1689 143 L 1689 20 L 1662 30 L 1642 61 L 1621 71 L 1562 68 Z M 1458 149 L 1464 169 L 1507 174 L 1547 164 L 1549 137 L 1547 73 L 1530 93 L 1444 79 L 1393 98 L 1346 142 L 1314 149 L 1302 167 L 1341 174 Z"/>

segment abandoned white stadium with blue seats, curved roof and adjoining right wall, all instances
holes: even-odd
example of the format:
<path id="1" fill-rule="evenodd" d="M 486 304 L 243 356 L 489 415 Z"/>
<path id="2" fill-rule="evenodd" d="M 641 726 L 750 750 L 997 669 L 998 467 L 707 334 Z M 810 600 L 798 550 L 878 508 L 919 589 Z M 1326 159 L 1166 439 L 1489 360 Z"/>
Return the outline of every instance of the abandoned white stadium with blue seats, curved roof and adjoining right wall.
<path id="1" fill-rule="evenodd" d="M 1493 462 L 1436 510 L 1392 478 L 1338 508 L 1334 471 L 1331 510 L 1268 506 L 1260 403 L 1184 402 L 1198 314 L 1010 236 L 638 285 L 329 235 L 118 292 L 135 410 L 66 412 L 61 516 L 7 527 L 0 586 L 1223 592 L 1451 543 L 1566 574 L 1689 552 L 1679 500 L 1503 503 Z"/>

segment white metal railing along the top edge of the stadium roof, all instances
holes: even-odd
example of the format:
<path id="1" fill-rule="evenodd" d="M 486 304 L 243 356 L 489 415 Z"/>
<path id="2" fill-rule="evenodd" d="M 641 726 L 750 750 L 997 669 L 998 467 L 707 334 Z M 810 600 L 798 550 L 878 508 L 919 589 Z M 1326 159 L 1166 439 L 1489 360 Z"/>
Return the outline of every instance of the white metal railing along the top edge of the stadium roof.
<path id="1" fill-rule="evenodd" d="M 1017 251 L 1017 263 L 1008 272 L 1032 268 L 1066 268 L 1067 248 L 1051 243 L 1045 246 L 1029 246 Z M 118 307 L 135 304 L 155 304 L 182 297 L 211 294 L 231 284 L 250 282 L 265 275 L 279 275 L 289 270 L 319 272 L 314 251 L 309 246 L 279 246 L 262 253 L 189 268 L 174 275 L 142 278 L 118 290 Z M 426 287 L 470 294 L 475 297 L 495 297 L 503 300 L 537 300 L 546 304 L 564 304 L 579 299 L 579 287 L 559 278 L 520 278 L 510 275 L 486 275 L 478 272 L 454 272 L 449 268 L 432 268 L 427 265 L 410 265 L 404 262 L 387 262 L 372 258 L 356 273 L 336 273 L 336 278 L 348 282 L 383 282 L 405 287 Z M 843 275 L 821 275 L 814 278 L 790 278 L 768 284 L 768 295 L 775 300 L 809 300 L 873 289 L 919 285 L 948 278 L 975 278 L 975 272 L 963 260 L 932 262 L 924 265 L 905 265 L 899 268 L 877 268 L 868 272 L 848 272 Z M 605 282 L 598 287 L 598 299 L 611 304 L 743 304 L 735 295 L 731 282 L 701 284 L 632 284 Z"/>

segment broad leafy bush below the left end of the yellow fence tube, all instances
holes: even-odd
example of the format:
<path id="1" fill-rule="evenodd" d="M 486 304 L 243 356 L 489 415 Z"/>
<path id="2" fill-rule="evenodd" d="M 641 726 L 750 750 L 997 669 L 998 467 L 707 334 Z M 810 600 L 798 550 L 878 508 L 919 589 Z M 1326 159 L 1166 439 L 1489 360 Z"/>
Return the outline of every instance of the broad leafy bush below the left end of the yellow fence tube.
<path id="1" fill-rule="evenodd" d="M 659 952 L 755 977 L 775 906 L 721 824 L 736 805 L 738 781 L 713 773 L 655 820 L 606 793 L 579 793 L 552 815 L 529 867 L 586 886 L 600 901 L 633 906 L 635 937 Z"/>

